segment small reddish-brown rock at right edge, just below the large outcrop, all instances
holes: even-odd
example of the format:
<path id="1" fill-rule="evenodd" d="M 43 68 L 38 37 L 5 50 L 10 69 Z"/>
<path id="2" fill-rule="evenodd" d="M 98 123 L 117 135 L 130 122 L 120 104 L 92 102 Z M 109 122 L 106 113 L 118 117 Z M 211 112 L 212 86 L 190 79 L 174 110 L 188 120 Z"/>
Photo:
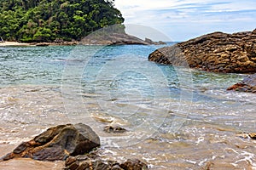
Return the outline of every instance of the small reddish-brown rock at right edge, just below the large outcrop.
<path id="1" fill-rule="evenodd" d="M 227 90 L 236 90 L 256 94 L 256 74 L 250 75 L 228 88 Z"/>

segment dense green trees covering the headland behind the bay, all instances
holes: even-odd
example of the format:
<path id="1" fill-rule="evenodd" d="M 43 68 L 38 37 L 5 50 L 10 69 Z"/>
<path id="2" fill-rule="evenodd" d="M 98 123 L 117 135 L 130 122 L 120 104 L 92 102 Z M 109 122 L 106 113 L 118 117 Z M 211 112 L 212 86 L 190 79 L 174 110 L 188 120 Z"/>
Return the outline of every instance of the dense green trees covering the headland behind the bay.
<path id="1" fill-rule="evenodd" d="M 79 40 L 124 22 L 109 0 L 1 0 L 0 11 L 0 36 L 20 42 Z"/>

